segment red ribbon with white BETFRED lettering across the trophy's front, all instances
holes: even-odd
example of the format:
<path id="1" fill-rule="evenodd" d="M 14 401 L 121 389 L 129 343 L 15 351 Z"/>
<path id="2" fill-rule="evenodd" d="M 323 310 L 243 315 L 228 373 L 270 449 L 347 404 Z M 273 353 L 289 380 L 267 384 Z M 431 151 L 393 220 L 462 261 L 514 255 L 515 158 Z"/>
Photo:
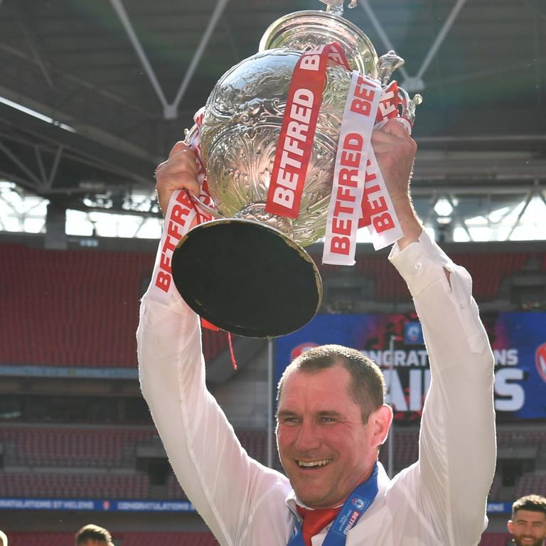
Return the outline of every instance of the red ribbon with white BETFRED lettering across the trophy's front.
<path id="1" fill-rule="evenodd" d="M 299 58 L 292 74 L 281 133 L 267 192 L 267 213 L 298 218 L 301 194 L 316 131 L 316 120 L 326 84 L 328 61 L 349 65 L 341 46 L 319 45 Z"/>

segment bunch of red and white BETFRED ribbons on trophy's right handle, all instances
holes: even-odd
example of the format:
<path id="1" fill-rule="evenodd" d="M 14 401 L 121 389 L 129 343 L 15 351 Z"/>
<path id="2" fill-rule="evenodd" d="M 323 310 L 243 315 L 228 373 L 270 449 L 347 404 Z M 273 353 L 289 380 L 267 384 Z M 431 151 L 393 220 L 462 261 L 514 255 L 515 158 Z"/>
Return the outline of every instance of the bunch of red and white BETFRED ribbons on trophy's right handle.
<path id="1" fill-rule="evenodd" d="M 396 82 L 382 90 L 378 80 L 353 73 L 326 220 L 325 264 L 355 263 L 358 228 L 368 227 L 375 250 L 392 245 L 403 235 L 370 144 L 373 129 L 380 129 L 388 119 L 400 119 L 398 105 Z"/>

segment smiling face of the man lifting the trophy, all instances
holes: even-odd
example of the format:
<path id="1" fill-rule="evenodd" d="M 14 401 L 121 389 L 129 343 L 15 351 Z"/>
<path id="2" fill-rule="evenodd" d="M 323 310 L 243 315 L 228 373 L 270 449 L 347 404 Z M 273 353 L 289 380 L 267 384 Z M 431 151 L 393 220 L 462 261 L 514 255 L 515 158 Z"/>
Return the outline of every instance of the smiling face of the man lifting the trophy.
<path id="1" fill-rule="evenodd" d="M 350 374 L 336 365 L 291 373 L 279 400 L 277 447 L 299 500 L 311 508 L 345 501 L 370 475 L 390 424 L 383 406 L 368 423 L 350 396 Z"/>

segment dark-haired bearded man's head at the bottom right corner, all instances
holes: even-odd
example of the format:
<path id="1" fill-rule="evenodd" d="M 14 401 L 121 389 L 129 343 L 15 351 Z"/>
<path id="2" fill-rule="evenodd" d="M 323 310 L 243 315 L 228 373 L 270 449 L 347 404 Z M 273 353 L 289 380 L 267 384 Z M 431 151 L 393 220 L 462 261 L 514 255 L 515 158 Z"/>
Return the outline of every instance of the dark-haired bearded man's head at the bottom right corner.
<path id="1" fill-rule="evenodd" d="M 528 495 L 512 505 L 508 530 L 517 546 L 542 546 L 546 538 L 546 497 Z"/>

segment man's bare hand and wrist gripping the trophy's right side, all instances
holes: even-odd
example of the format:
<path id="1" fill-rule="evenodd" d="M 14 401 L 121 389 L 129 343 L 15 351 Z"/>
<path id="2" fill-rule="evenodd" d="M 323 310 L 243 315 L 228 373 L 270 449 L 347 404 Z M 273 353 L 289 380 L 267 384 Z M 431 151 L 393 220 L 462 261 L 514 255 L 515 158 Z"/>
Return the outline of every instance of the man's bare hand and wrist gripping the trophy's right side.
<path id="1" fill-rule="evenodd" d="M 400 122 L 389 119 L 381 129 L 373 132 L 372 146 L 404 232 L 404 237 L 398 240 L 402 250 L 410 242 L 417 241 L 422 232 L 410 198 L 410 177 L 417 144 Z"/>

